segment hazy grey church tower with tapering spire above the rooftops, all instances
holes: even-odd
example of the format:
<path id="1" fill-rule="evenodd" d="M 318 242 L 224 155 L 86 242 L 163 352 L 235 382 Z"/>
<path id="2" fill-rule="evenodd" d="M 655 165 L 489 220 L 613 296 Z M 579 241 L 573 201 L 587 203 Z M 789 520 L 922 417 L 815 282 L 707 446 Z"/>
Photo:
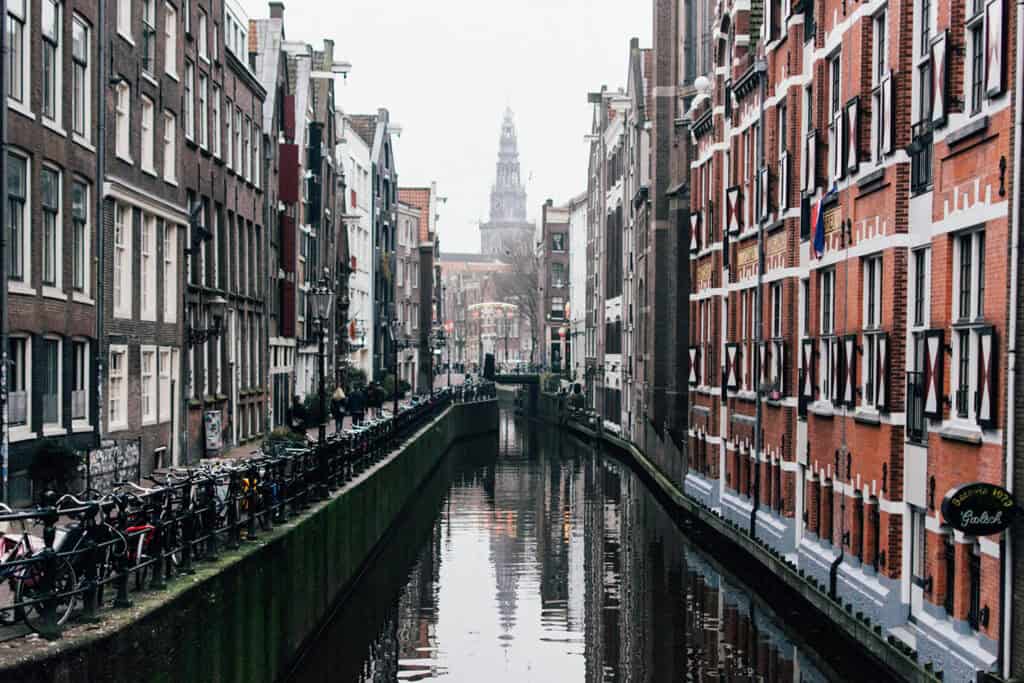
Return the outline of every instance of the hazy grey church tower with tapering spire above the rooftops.
<path id="1" fill-rule="evenodd" d="M 490 187 L 490 219 L 480 225 L 484 254 L 529 249 L 534 225 L 526 220 L 526 188 L 519 170 L 519 143 L 512 110 L 505 110 L 498 146 L 498 168 Z"/>

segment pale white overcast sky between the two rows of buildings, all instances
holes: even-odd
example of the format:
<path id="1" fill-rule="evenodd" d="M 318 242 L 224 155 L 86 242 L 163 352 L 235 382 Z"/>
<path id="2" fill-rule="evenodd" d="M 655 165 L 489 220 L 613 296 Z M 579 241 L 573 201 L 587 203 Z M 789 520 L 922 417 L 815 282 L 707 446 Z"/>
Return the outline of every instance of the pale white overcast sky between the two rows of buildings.
<path id="1" fill-rule="evenodd" d="M 243 0 L 250 17 L 267 3 Z M 437 181 L 441 251 L 478 251 L 505 106 L 515 112 L 530 220 L 587 182 L 587 93 L 626 87 L 629 41 L 651 43 L 651 3 L 621 0 L 286 0 L 289 40 L 335 40 L 352 62 L 335 94 L 402 126 L 400 185 Z"/>

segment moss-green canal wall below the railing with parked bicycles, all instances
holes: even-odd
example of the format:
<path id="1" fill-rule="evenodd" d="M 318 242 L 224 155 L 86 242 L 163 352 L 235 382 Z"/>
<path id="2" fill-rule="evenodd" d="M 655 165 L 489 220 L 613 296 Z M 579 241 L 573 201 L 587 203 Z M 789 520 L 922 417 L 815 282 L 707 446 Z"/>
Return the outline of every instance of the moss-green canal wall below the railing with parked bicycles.
<path id="1" fill-rule="evenodd" d="M 497 400 L 450 407 L 332 499 L 195 575 L 54 643 L 15 641 L 0 681 L 282 679 L 449 449 L 498 425 Z"/>

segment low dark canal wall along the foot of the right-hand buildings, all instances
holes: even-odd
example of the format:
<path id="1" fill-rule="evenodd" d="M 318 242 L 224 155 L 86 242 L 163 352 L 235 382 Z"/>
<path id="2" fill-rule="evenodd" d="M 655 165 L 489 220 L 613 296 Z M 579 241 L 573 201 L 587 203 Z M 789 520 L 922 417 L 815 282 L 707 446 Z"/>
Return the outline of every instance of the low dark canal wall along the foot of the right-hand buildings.
<path id="1" fill-rule="evenodd" d="M 698 500 L 684 494 L 671 474 L 665 472 L 634 443 L 604 430 L 597 432 L 579 422 L 564 421 L 558 411 L 557 399 L 553 396 L 542 398 L 540 418 L 571 431 L 588 442 L 608 447 L 623 457 L 677 513 L 698 522 L 710 531 L 716 555 L 731 557 L 733 561 L 729 564 L 741 571 L 744 581 L 762 595 L 773 595 L 779 602 L 784 602 L 785 599 L 801 600 L 834 625 L 839 630 L 838 635 L 851 645 L 860 647 L 866 656 L 870 656 L 899 680 L 918 683 L 938 680 L 911 654 L 890 642 L 880 625 L 867 622 L 861 613 L 833 600 L 826 592 L 827 587 L 815 586 L 810 577 L 798 570 L 784 555 L 763 541 L 751 538 L 744 527 L 731 523 Z M 757 564 L 752 564 L 751 560 Z"/>

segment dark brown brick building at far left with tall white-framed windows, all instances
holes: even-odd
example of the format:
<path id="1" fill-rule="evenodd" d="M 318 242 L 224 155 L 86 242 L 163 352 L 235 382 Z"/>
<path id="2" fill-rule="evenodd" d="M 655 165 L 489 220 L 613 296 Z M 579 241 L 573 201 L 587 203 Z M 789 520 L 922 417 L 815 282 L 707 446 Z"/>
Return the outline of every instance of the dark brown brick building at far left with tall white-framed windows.
<path id="1" fill-rule="evenodd" d="M 7 5 L 6 359 L 9 461 L 4 500 L 33 496 L 43 447 L 85 451 L 103 423 L 97 384 L 96 148 L 101 82 L 93 2 Z M 41 11 L 42 20 L 30 17 Z M 32 20 L 30 20 L 30 18 Z M 100 208 L 101 211 L 101 208 Z"/>

